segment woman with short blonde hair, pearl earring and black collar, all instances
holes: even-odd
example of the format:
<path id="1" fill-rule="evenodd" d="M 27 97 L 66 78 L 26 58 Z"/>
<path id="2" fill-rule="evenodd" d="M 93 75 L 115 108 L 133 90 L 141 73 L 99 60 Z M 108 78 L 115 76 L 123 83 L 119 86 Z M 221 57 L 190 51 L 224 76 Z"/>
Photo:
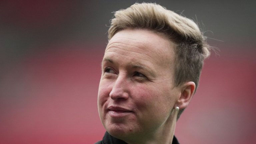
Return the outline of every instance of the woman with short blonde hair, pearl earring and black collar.
<path id="1" fill-rule="evenodd" d="M 176 144 L 176 121 L 198 85 L 209 46 L 198 26 L 153 3 L 115 12 L 102 60 L 96 144 Z"/>

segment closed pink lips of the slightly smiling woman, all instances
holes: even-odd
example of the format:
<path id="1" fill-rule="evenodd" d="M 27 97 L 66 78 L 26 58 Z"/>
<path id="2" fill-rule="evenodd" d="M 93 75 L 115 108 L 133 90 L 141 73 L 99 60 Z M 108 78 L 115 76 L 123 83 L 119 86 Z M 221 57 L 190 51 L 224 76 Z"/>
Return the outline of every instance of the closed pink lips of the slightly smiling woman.
<path id="1" fill-rule="evenodd" d="M 133 111 L 129 109 L 118 107 L 118 106 L 110 106 L 107 108 L 107 110 L 108 110 L 108 114 L 111 117 L 124 117 L 133 113 Z"/>

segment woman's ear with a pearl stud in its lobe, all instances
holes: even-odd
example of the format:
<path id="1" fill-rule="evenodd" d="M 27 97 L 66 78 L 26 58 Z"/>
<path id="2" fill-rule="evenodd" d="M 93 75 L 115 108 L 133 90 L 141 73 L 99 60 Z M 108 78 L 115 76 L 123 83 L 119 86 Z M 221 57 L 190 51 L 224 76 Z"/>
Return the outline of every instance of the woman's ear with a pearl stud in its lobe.
<path id="1" fill-rule="evenodd" d="M 181 95 L 178 101 L 176 102 L 176 106 L 180 109 L 184 109 L 188 106 L 192 96 L 195 92 L 196 84 L 192 81 L 186 82 L 181 86 Z"/>

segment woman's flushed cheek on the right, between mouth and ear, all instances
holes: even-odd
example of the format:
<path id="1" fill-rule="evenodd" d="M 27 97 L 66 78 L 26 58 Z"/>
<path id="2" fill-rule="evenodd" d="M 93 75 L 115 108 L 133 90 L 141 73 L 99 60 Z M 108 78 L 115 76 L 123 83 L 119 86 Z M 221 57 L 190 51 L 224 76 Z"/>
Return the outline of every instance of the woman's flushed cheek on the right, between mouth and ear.
<path id="1" fill-rule="evenodd" d="M 159 127 L 171 113 L 168 94 L 162 90 L 158 87 L 138 87 L 133 91 L 138 123 L 149 131 Z"/>

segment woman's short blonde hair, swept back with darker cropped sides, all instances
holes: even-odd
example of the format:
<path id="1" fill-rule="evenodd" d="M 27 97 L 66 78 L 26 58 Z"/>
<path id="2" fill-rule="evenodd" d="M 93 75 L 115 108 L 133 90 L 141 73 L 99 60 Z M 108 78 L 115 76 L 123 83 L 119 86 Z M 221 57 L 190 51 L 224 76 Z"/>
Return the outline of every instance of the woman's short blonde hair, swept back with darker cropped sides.
<path id="1" fill-rule="evenodd" d="M 135 3 L 115 12 L 108 39 L 127 28 L 148 29 L 173 42 L 176 46 L 174 85 L 193 81 L 197 88 L 203 61 L 210 55 L 210 46 L 195 22 L 156 3 Z"/>

